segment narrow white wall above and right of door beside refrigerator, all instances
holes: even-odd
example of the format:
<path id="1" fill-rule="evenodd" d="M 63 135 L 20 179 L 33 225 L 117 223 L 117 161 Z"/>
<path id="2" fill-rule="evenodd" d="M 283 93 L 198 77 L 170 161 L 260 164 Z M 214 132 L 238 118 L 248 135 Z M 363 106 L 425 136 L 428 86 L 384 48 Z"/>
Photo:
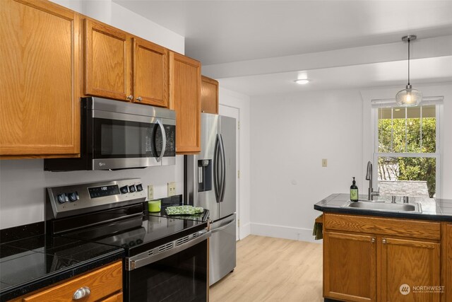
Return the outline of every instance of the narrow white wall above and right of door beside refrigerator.
<path id="1" fill-rule="evenodd" d="M 251 166 L 250 166 L 250 98 L 248 95 L 242 93 L 236 93 L 225 88 L 221 88 L 220 81 L 220 93 L 219 103 L 234 108 L 239 108 L 239 139 L 240 139 L 240 195 L 239 195 L 239 238 L 243 239 L 251 232 L 250 224 L 250 204 L 251 204 Z"/>

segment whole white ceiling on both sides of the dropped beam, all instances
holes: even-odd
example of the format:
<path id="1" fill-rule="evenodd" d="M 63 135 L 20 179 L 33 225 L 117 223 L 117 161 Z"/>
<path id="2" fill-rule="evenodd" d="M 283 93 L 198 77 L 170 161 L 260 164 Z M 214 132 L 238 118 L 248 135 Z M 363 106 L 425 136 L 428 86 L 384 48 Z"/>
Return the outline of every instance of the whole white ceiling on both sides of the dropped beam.
<path id="1" fill-rule="evenodd" d="M 185 54 L 200 60 L 209 71 L 206 75 L 247 95 L 404 85 L 406 45 L 400 38 L 407 34 L 419 39 L 452 35 L 451 0 L 113 1 L 183 35 Z M 374 62 L 369 57 L 359 64 L 331 64 L 329 68 L 308 64 L 309 69 L 287 66 L 278 72 L 256 69 L 246 76 L 215 72 L 232 62 L 388 43 L 400 43 L 399 59 Z M 340 53 L 336 56 L 339 60 Z M 446 57 L 412 60 L 413 86 L 452 81 L 451 58 L 452 50 Z M 293 83 L 302 71 L 313 79 L 307 86 Z"/>

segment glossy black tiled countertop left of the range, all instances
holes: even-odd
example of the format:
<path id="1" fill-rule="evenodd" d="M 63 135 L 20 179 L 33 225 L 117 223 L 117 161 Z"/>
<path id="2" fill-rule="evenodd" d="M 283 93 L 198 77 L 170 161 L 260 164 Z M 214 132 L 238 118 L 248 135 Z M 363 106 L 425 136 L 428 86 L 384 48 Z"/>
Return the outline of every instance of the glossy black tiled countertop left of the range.
<path id="1" fill-rule="evenodd" d="M 124 255 L 122 248 L 46 236 L 37 231 L 44 229 L 43 224 L 1 231 L 0 301 L 107 265 Z"/>

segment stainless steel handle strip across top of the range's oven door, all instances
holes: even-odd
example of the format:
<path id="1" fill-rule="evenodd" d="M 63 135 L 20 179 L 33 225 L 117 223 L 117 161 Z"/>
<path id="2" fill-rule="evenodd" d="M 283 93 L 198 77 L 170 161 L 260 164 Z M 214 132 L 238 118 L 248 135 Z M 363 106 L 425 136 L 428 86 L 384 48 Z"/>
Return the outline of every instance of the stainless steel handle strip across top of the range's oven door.
<path id="1" fill-rule="evenodd" d="M 133 269 L 138 269 L 140 267 L 144 267 L 145 265 L 150 265 L 153 262 L 157 262 L 158 260 L 162 260 L 163 258 L 177 254 L 178 252 L 182 252 L 182 250 L 191 248 L 192 246 L 201 243 L 203 240 L 206 240 L 210 237 L 210 235 L 210 231 L 202 230 L 198 232 L 198 236 L 196 238 L 191 239 L 186 243 L 182 243 L 181 245 L 177 245 L 174 248 L 170 248 L 169 250 L 165 250 L 165 252 L 149 255 L 151 250 L 148 250 L 147 252 L 142 252 L 136 256 L 126 258 L 126 270 L 131 271 Z M 175 244 L 178 240 L 174 240 L 172 244 Z M 155 248 L 152 251 L 155 250 L 158 250 L 158 248 Z"/>

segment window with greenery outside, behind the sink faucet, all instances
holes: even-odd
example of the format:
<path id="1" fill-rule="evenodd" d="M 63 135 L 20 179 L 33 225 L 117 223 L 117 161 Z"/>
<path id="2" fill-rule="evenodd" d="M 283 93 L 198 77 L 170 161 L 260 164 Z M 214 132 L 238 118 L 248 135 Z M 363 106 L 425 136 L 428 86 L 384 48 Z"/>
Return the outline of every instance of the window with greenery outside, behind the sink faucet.
<path id="1" fill-rule="evenodd" d="M 374 166 L 383 195 L 436 197 L 439 192 L 439 106 L 374 103 Z"/>

